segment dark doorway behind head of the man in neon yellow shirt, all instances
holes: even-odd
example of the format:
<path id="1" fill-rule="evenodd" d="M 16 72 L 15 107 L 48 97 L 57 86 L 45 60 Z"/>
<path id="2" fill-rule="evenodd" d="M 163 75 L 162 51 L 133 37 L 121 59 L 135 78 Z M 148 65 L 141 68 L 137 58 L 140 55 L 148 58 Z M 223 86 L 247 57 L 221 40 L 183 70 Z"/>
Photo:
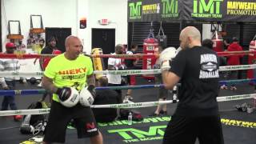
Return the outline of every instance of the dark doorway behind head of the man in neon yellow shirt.
<path id="1" fill-rule="evenodd" d="M 65 39 L 71 35 L 71 28 L 46 27 L 46 44 L 51 37 L 57 38 L 58 50 L 66 51 Z"/>

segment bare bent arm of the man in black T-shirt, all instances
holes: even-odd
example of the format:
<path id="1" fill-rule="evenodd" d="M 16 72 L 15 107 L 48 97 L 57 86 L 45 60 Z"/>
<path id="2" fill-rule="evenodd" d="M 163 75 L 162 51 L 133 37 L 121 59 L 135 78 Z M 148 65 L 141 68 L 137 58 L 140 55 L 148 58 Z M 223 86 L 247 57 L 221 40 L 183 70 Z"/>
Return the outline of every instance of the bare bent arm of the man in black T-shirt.
<path id="1" fill-rule="evenodd" d="M 162 71 L 162 82 L 166 89 L 173 90 L 174 86 L 178 83 L 179 80 L 180 78 L 178 75 L 170 72 L 169 70 Z"/>

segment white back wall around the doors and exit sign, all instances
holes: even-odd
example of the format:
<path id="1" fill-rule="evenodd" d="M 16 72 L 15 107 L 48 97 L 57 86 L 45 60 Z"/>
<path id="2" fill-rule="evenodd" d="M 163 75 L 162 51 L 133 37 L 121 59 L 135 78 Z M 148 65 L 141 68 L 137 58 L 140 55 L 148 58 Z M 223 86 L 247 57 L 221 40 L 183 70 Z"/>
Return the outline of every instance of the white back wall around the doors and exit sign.
<path id="1" fill-rule="evenodd" d="M 30 30 L 30 14 L 41 14 L 44 27 L 71 27 L 72 34 L 84 41 L 86 52 L 91 50 L 92 28 L 116 29 L 116 44 L 127 43 L 126 0 L 2 0 L 2 48 L 8 41 L 8 20 L 19 20 L 24 35 Z M 79 19 L 87 18 L 87 28 L 79 29 Z M 101 26 L 98 20 L 107 18 L 110 25 Z"/>

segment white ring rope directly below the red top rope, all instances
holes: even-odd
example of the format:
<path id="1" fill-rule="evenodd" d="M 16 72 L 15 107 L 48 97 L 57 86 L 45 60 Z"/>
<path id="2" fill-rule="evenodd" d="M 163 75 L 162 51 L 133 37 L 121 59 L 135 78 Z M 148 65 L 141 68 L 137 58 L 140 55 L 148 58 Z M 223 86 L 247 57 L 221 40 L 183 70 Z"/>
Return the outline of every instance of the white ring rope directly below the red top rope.
<path id="1" fill-rule="evenodd" d="M 238 65 L 238 66 L 219 66 L 219 71 L 229 70 L 250 70 L 256 69 L 256 64 Z M 161 74 L 161 69 L 154 70 L 94 70 L 94 74 L 122 74 L 122 75 L 142 75 L 142 74 Z M 18 72 L 18 71 L 2 71 L 0 75 L 5 77 L 39 77 L 43 75 L 43 71 L 36 72 Z"/>

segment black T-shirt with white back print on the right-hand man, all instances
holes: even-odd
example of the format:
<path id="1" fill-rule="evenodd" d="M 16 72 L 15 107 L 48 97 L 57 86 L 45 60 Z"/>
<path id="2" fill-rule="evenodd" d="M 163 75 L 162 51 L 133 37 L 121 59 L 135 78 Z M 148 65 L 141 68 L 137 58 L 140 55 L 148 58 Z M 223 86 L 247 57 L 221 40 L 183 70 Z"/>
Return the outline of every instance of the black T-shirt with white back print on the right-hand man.
<path id="1" fill-rule="evenodd" d="M 181 78 L 175 114 L 206 116 L 218 114 L 218 56 L 202 46 L 181 50 L 171 62 L 174 74 Z"/>

